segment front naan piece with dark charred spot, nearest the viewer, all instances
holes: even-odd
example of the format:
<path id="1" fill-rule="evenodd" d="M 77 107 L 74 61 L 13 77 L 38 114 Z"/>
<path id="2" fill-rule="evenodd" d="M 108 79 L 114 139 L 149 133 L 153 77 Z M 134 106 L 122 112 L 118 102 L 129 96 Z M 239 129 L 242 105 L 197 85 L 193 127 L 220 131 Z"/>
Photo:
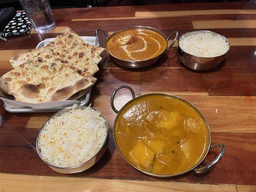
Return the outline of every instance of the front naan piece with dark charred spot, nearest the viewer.
<path id="1" fill-rule="evenodd" d="M 67 100 L 78 91 L 92 86 L 96 80 L 94 77 L 85 79 L 62 63 L 40 65 L 34 61 L 0 77 L 0 87 L 17 101 L 42 103 Z"/>

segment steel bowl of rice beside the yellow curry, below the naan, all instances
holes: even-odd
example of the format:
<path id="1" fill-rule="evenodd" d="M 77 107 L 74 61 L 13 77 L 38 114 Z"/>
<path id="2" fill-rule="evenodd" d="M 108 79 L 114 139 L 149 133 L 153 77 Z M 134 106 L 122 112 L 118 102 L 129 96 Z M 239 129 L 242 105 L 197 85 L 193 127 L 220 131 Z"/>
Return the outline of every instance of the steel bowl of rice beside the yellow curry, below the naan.
<path id="1" fill-rule="evenodd" d="M 107 148 L 108 123 L 95 108 L 74 105 L 47 120 L 37 135 L 37 153 L 60 173 L 82 172 Z"/>

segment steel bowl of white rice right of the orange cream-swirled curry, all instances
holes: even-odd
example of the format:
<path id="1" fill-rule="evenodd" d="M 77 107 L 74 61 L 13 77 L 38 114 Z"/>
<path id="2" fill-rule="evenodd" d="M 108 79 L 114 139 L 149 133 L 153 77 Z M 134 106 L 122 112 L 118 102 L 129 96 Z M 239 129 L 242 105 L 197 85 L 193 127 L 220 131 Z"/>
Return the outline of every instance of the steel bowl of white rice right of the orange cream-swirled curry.
<path id="1" fill-rule="evenodd" d="M 191 31 L 178 39 L 178 55 L 185 66 L 197 71 L 209 70 L 226 59 L 228 39 L 206 30 Z"/>

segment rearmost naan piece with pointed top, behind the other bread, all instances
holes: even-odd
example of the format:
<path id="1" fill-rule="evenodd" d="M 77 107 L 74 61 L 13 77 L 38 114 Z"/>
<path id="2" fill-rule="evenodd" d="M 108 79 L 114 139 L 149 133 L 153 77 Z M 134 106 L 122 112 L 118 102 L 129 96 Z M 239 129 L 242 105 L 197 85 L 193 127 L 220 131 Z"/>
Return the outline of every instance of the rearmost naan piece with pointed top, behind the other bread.
<path id="1" fill-rule="evenodd" d="M 104 48 L 85 43 L 85 41 L 76 33 L 74 33 L 70 28 L 66 28 L 61 32 L 60 35 L 55 38 L 53 42 L 49 43 L 47 46 L 35 48 L 20 53 L 18 56 L 11 58 L 10 62 L 12 64 L 12 67 L 16 68 L 27 60 L 31 59 L 32 57 L 40 57 L 40 54 L 46 52 L 48 49 L 52 49 L 54 52 L 60 53 L 59 56 L 55 55 L 56 57 L 59 57 L 59 59 L 61 59 L 61 56 L 66 55 L 67 52 L 77 52 L 80 50 L 81 52 L 86 52 L 86 55 L 88 57 L 91 57 L 91 59 L 95 60 L 97 64 L 102 59 L 99 54 L 101 54 L 102 51 L 105 50 Z"/>

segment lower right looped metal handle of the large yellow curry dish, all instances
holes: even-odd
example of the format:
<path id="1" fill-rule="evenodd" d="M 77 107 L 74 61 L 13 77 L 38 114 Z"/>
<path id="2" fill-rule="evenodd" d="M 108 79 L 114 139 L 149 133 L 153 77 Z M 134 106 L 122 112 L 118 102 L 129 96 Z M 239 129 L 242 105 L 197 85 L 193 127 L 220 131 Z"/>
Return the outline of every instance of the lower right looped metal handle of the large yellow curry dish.
<path id="1" fill-rule="evenodd" d="M 202 168 L 194 168 L 194 171 L 196 173 L 204 173 L 204 172 L 208 171 L 209 169 L 213 168 L 216 165 L 216 163 L 219 162 L 219 160 L 221 159 L 221 157 L 225 153 L 225 146 L 224 146 L 224 144 L 213 144 L 213 145 L 210 146 L 209 150 L 212 150 L 215 147 L 221 147 L 219 155 L 212 162 L 210 162 L 207 166 L 202 167 Z"/>

